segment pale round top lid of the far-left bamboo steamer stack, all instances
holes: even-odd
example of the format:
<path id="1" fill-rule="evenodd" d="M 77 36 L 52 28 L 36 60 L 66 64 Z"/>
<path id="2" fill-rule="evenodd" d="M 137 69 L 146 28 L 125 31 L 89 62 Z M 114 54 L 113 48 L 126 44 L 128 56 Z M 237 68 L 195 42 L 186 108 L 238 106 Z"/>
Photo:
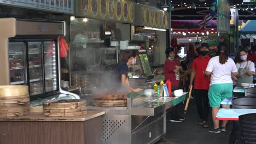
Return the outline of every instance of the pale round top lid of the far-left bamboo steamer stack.
<path id="1" fill-rule="evenodd" d="M 0 97 L 28 95 L 28 86 L 0 86 Z"/>

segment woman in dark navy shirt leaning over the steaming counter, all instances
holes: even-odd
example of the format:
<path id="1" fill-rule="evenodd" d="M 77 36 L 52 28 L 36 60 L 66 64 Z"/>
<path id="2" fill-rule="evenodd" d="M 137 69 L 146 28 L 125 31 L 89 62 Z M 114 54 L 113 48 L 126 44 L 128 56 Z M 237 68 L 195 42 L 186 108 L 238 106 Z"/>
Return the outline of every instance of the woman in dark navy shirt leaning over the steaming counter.
<path id="1" fill-rule="evenodd" d="M 128 66 L 136 63 L 136 50 L 125 50 L 120 63 L 114 69 L 114 75 L 117 78 L 117 85 L 127 89 L 128 92 L 138 92 L 141 88 L 132 88 L 128 81 Z"/>

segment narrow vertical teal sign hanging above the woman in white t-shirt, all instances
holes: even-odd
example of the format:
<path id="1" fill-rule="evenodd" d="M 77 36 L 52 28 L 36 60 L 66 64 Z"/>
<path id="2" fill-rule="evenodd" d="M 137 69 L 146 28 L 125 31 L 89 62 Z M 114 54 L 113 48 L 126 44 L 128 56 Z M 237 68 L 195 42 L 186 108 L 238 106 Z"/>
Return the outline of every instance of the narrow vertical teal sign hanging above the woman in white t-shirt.
<path id="1" fill-rule="evenodd" d="M 230 0 L 218 1 L 218 32 L 229 33 L 230 31 Z"/>

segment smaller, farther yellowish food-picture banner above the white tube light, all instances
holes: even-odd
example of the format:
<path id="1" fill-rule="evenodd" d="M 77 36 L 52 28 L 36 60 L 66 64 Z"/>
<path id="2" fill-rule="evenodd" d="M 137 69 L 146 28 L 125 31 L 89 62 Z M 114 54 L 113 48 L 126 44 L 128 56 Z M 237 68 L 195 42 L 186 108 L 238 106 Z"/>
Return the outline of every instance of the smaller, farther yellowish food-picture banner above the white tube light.
<path id="1" fill-rule="evenodd" d="M 168 12 L 136 4 L 136 26 L 170 29 L 170 14 Z"/>

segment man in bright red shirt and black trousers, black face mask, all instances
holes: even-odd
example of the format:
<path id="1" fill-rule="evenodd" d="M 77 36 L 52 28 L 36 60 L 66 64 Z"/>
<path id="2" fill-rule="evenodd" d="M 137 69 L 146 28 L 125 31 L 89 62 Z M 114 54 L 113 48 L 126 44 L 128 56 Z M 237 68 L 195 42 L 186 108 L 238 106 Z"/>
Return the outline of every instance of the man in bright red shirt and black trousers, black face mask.
<path id="1" fill-rule="evenodd" d="M 194 78 L 194 89 L 195 89 L 195 99 L 197 112 L 201 118 L 201 123 L 203 128 L 208 128 L 207 117 L 209 115 L 209 99 L 208 99 L 208 89 L 210 87 L 210 77 L 205 77 L 204 71 L 210 61 L 211 57 L 208 56 L 209 45 L 207 43 L 201 44 L 201 55 L 197 57 L 192 65 L 192 73 L 190 76 L 190 85 L 193 84 Z"/>

